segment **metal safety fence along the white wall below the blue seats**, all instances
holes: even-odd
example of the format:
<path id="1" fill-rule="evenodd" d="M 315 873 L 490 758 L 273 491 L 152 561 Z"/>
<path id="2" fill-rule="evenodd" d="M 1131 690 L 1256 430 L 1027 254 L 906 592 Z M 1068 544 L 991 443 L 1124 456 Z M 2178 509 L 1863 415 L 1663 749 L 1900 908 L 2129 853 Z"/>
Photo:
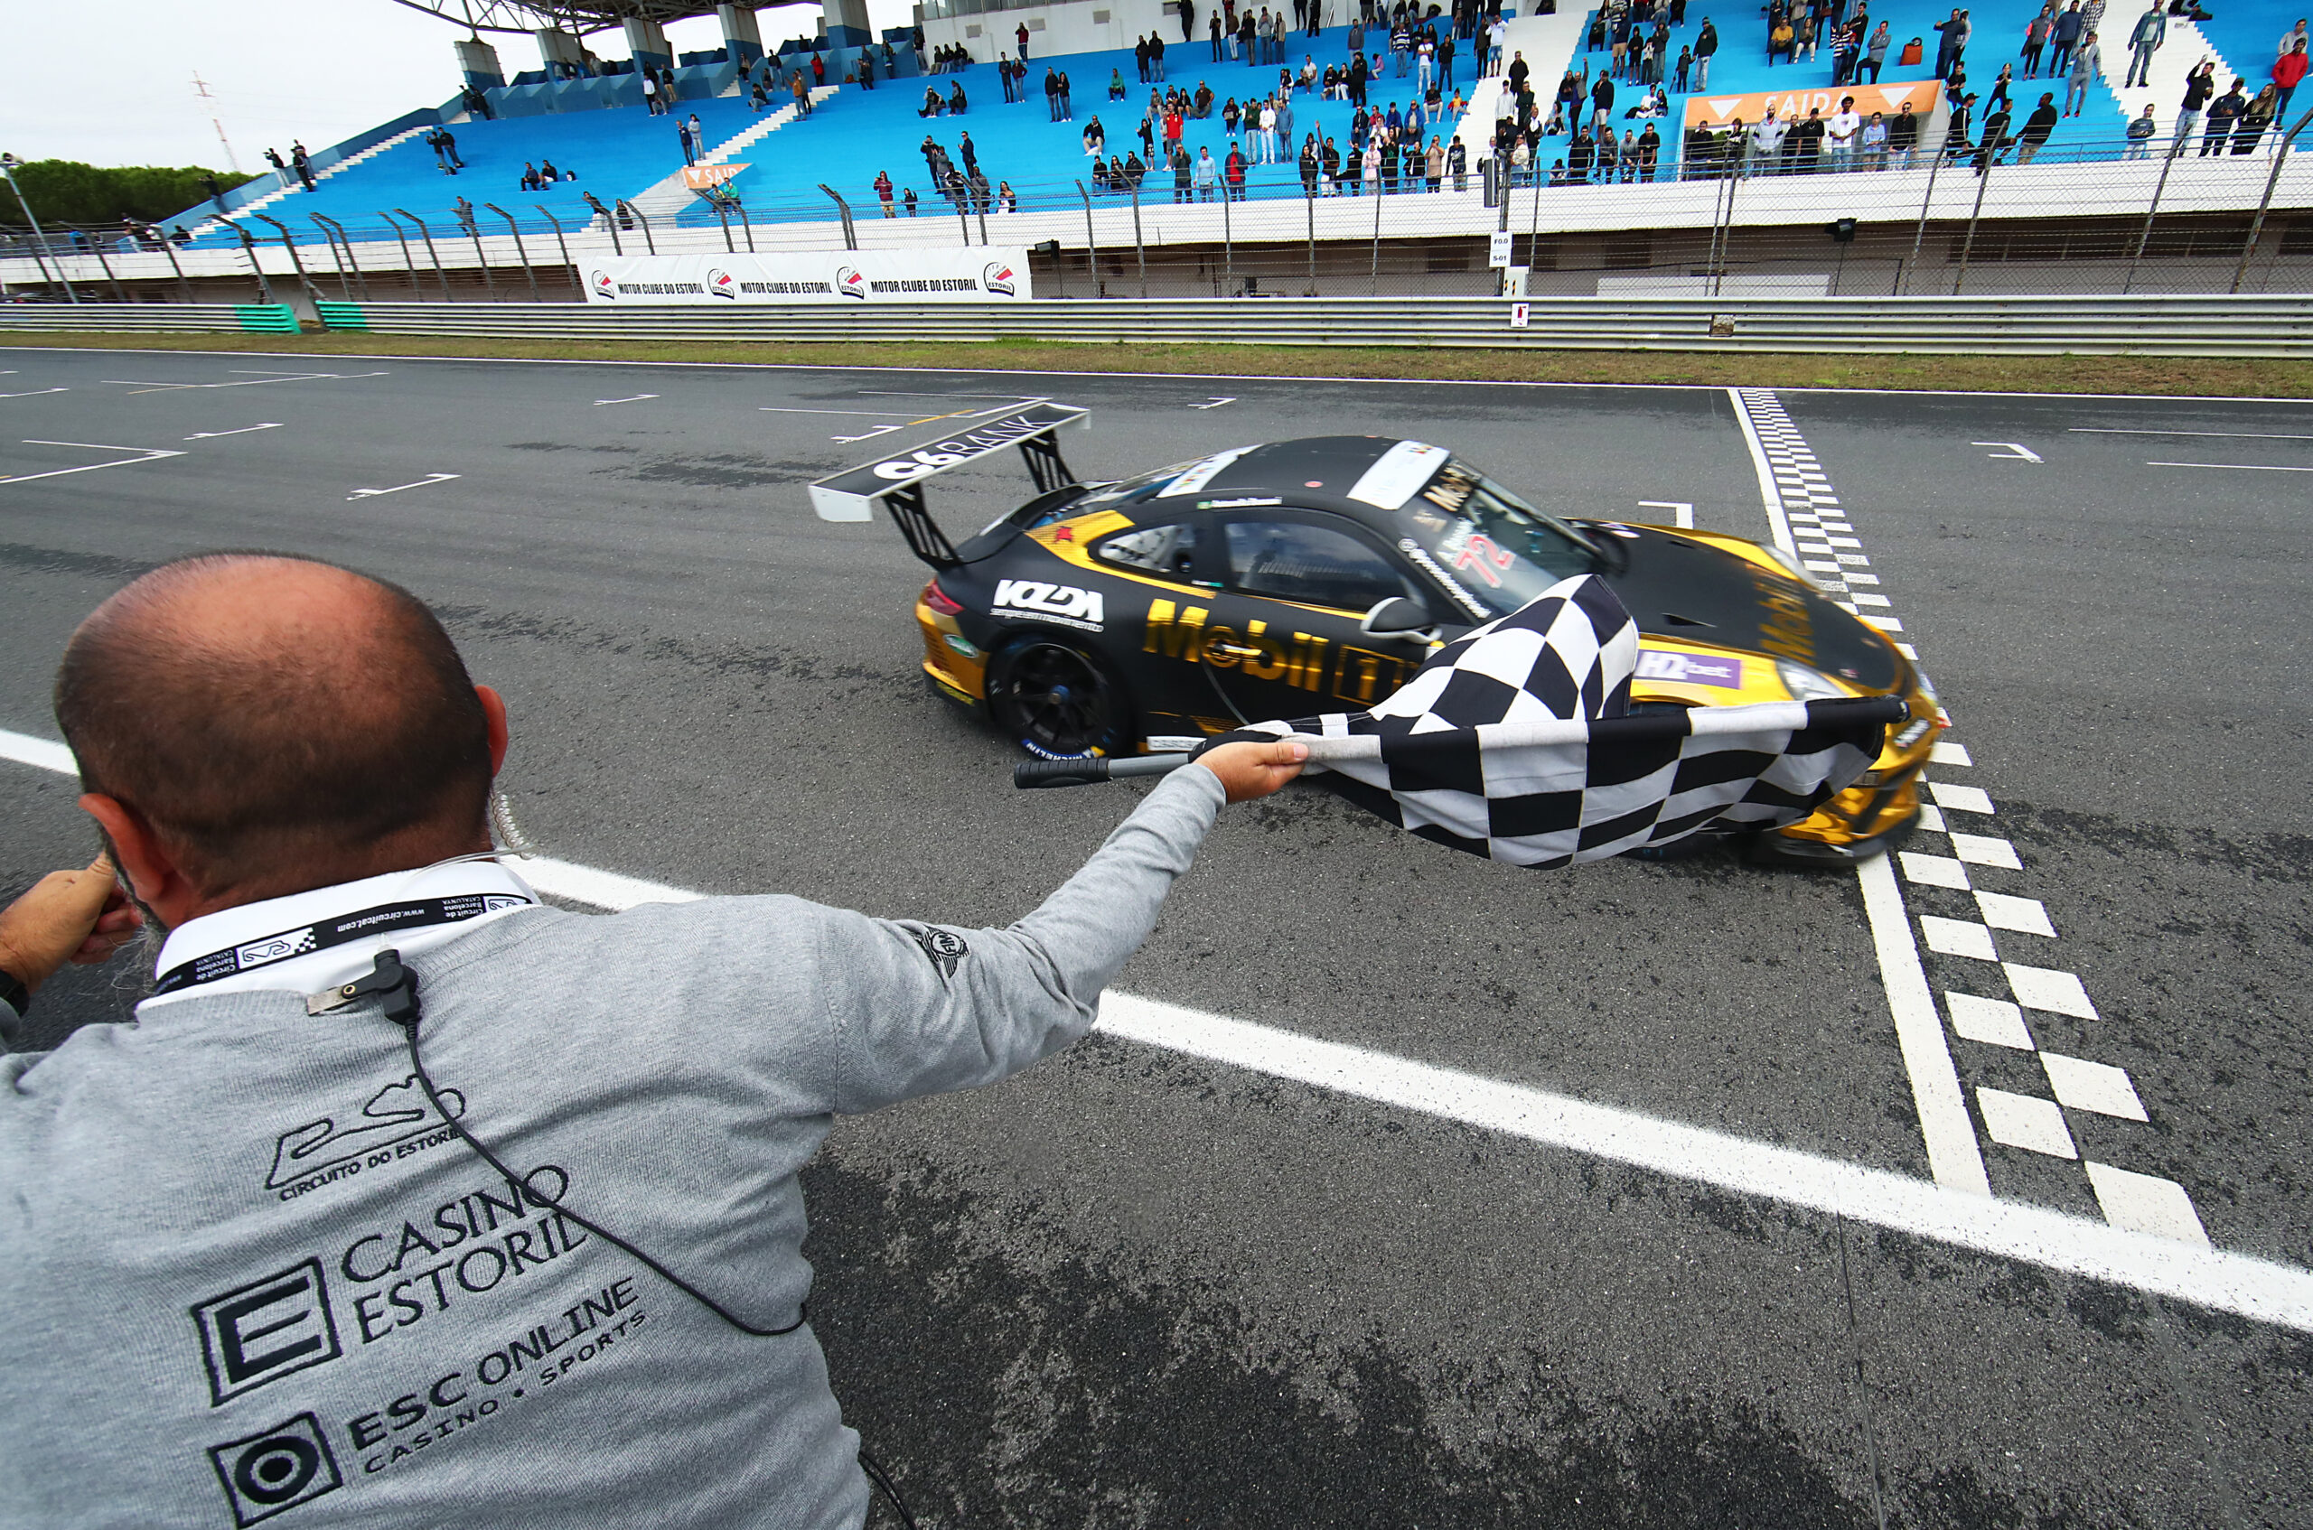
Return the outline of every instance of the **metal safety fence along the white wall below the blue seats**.
<path id="1" fill-rule="evenodd" d="M 372 217 L 217 220 L 190 245 L 0 229 L 0 282 L 113 300 L 578 300 L 604 257 L 1008 247 L 1039 296 L 1991 296 L 2313 289 L 2313 162 L 2253 153 L 2137 159 L 1887 155 L 1809 173 L 1739 162 L 1686 180 L 1203 185 L 1170 171 L 904 187 L 828 183 L 810 201 L 578 206 L 550 199 L 379 208 Z M 1274 180 L 1281 176 L 1281 180 Z M 928 178 L 925 178 L 928 183 Z M 1390 190 L 1395 187 L 1395 190 Z M 1510 236 L 1515 275 L 1490 266 Z M 222 240 L 222 243 L 217 243 Z"/>

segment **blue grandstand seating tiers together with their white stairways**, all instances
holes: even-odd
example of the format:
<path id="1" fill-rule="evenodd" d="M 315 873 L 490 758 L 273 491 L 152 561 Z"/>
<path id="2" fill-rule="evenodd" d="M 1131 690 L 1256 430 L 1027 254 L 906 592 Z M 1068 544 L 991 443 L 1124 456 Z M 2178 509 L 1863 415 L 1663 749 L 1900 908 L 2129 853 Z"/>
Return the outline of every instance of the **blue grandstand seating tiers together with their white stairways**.
<path id="1" fill-rule="evenodd" d="M 724 12 L 731 9 L 724 7 Z M 1126 14 L 1124 7 L 1117 9 Z M 1214 95 L 1212 116 L 1194 118 L 1187 125 L 1184 143 L 1189 153 L 1210 150 L 1217 162 L 1226 159 L 1233 139 L 1224 129 L 1224 104 L 1228 99 L 1249 102 L 1274 86 L 1277 65 L 1254 65 L 1235 58 L 1214 62 L 1205 37 L 1180 42 L 1170 16 L 1156 16 L 1152 0 L 1145 9 L 1168 28 L 1175 28 L 1166 53 L 1168 83 L 1191 92 L 1203 83 Z M 1880 0 L 1880 5 L 1871 7 L 1874 23 L 1887 21 L 1892 35 L 1880 83 L 1892 86 L 1934 76 L 1934 23 L 1948 12 L 1950 7 L 1936 0 Z M 1991 0 L 1991 5 L 1973 5 L 1971 12 L 1975 32 L 1966 53 L 1968 88 L 1989 92 L 1998 65 L 2015 60 L 2024 21 L 2038 12 L 2038 0 Z M 925 203 L 923 213 L 930 215 L 937 210 L 932 206 L 937 199 L 932 196 L 930 173 L 921 153 L 928 134 L 960 162 L 960 134 L 969 132 L 978 164 L 985 169 L 990 183 L 1008 180 L 1015 190 L 1039 187 L 1045 192 L 1073 192 L 1078 180 L 1089 187 L 1089 159 L 1082 143 L 1085 129 L 1092 120 L 1099 120 L 1106 129 L 1108 153 L 1115 157 L 1140 150 L 1138 125 L 1150 99 L 1150 86 L 1140 83 L 1136 58 L 1129 49 L 1096 49 L 1050 58 L 1036 51 L 1025 83 L 1027 102 L 1004 102 L 992 55 L 1008 51 L 999 44 L 1008 44 L 1006 30 L 1011 21 L 1032 14 L 988 12 L 985 16 L 974 14 L 978 21 L 958 16 L 930 25 L 928 44 L 948 42 L 974 55 L 967 69 L 937 76 L 941 92 L 953 86 L 962 86 L 967 92 L 969 111 L 962 118 L 937 116 L 925 120 L 921 116 L 925 81 L 921 79 L 914 39 L 904 32 L 895 32 L 891 46 L 879 49 L 879 58 L 888 55 L 893 65 L 879 65 L 877 88 L 872 90 L 842 83 L 858 58 L 858 44 L 828 49 L 823 53 L 828 86 L 814 92 L 816 111 L 810 120 L 793 120 L 796 113 L 786 106 L 789 97 L 784 92 L 777 92 L 763 111 L 749 109 L 747 97 L 736 83 L 738 62 L 733 55 L 745 55 L 740 39 L 733 39 L 719 53 L 685 55 L 685 67 L 675 69 L 678 116 L 699 116 L 710 162 L 745 166 L 731 180 L 729 190 L 738 196 L 740 206 L 749 208 L 747 217 L 752 220 L 823 217 L 826 199 L 819 192 L 821 185 L 840 192 L 858 215 L 872 217 L 872 183 L 879 171 L 888 171 L 902 192 L 914 187 Z M 1506 14 L 1510 16 L 1508 51 L 1524 55 L 1531 69 L 1531 88 L 1545 104 L 1554 95 L 1561 74 L 1575 72 L 1589 86 L 1608 67 L 1608 55 L 1587 46 L 1594 35 L 1589 23 L 1596 12 L 1524 18 L 1515 9 Z M 1288 37 L 1286 60 L 1291 67 L 1298 69 L 1305 58 L 1311 58 L 1318 67 L 1344 62 L 1346 28 L 1339 18 L 1328 18 L 1332 25 L 1325 25 L 1316 37 L 1302 32 Z M 990 35 L 985 37 L 981 35 L 981 21 L 988 23 L 985 32 Z M 1820 49 L 1813 60 L 1767 60 L 1765 18 L 1756 5 L 1737 9 L 1719 7 L 1714 12 L 1709 0 L 1691 0 L 1684 23 L 1672 28 L 1672 60 L 1679 49 L 1693 46 L 1705 21 L 1716 21 L 1719 28 L 1719 53 L 1712 60 L 1707 95 L 1735 97 L 1769 90 L 1813 92 L 1830 88 L 1830 49 Z M 2183 18 L 2170 18 L 2170 39 L 2156 55 L 2153 86 L 2149 90 L 2121 90 L 2119 81 L 2128 65 L 2126 28 L 2133 21 L 2135 12 L 2121 16 L 2116 23 L 2107 16 L 2105 30 L 2116 35 L 2105 39 L 2103 79 L 2091 88 L 2086 111 L 2077 118 L 2066 118 L 2056 127 L 2045 159 L 2119 157 L 2123 125 L 2140 109 L 2142 99 L 2153 102 L 2165 132 L 2174 118 L 2174 99 L 2183 92 L 2183 74 L 2202 55 L 2218 58 L 2220 74 L 2227 81 L 2232 74 L 2241 74 L 2251 81 L 2251 90 L 2255 90 L 2267 76 L 2274 39 L 2294 16 L 2288 14 L 2285 0 L 2251 0 L 2246 5 L 2227 5 L 2204 28 L 2195 28 L 2195 23 Z M 1110 30 L 1126 25 L 1131 23 L 1113 23 Z M 1904 67 L 1897 60 L 1904 44 L 1913 37 L 1922 42 L 1924 60 L 1922 65 Z M 2220 55 L 2218 39 L 2225 39 L 2239 58 Z M 460 49 L 465 46 L 460 44 Z M 1367 37 L 1369 51 L 1383 46 L 1385 42 L 1379 32 Z M 1476 76 L 1476 44 L 1464 42 L 1457 53 L 1455 90 L 1469 97 L 1466 116 L 1450 116 L 1446 122 L 1432 125 L 1429 132 L 1460 136 L 1476 171 L 1492 153 L 1490 139 L 1501 86 L 1499 79 Z M 784 67 L 807 60 L 810 53 L 800 44 L 784 44 L 784 53 L 779 53 Z M 1052 67 L 1062 69 L 1071 83 L 1073 113 L 1066 122 L 1052 122 L 1045 111 L 1041 86 L 1043 72 Z M 412 113 L 386 125 L 386 129 L 365 134 L 356 141 L 359 148 L 340 146 L 342 150 L 356 148 L 356 153 L 331 150 L 317 155 L 315 164 L 322 166 L 322 180 L 315 192 L 268 190 L 259 183 L 245 196 L 250 206 L 241 210 L 266 213 L 289 224 L 298 238 L 319 240 L 319 233 L 308 229 L 310 215 L 375 222 L 384 210 L 407 208 L 428 217 L 428 222 L 453 226 L 446 208 L 463 196 L 476 208 L 495 203 L 520 220 L 544 213 L 562 226 L 578 229 L 592 217 L 583 201 L 583 194 L 592 194 L 608 206 L 634 201 L 655 224 L 712 226 L 717 222 L 715 213 L 678 178 L 682 169 L 682 153 L 675 136 L 678 116 L 650 116 L 643 109 L 638 76 L 631 67 L 604 65 L 604 69 L 606 74 L 581 79 L 548 79 L 546 72 L 537 72 L 520 74 L 511 83 L 483 86 L 481 95 L 488 99 L 495 120 L 476 120 L 463 102 Z M 1119 79 L 1124 86 L 1122 99 L 1108 97 L 1113 79 Z M 1862 109 L 1869 111 L 1871 88 L 1857 86 L 1857 90 L 1862 92 Z M 2054 90 L 2059 99 L 2063 95 L 2061 81 L 2015 81 L 2010 88 L 2015 104 L 2012 127 L 2022 125 L 2024 116 L 2038 102 L 2040 90 Z M 1453 95 L 1448 92 L 1448 97 Z M 1416 79 L 1392 74 L 1385 55 L 1383 74 L 1369 86 L 1369 99 L 1381 109 L 1390 104 L 1409 106 L 1416 99 Z M 1638 127 L 1628 118 L 1628 109 L 1638 99 L 1640 88 L 1635 83 L 1617 88 L 1617 132 Z M 1670 111 L 1658 120 L 1663 150 L 1656 176 L 1663 180 L 1679 173 L 1679 125 L 1686 116 L 1686 102 L 1688 95 L 1672 92 Z M 1295 139 L 1307 132 L 1330 134 L 1346 150 L 1348 118 L 1351 106 L 1344 99 L 1318 99 L 1307 92 L 1293 95 Z M 423 134 L 435 122 L 449 122 L 456 134 L 456 150 L 465 162 L 458 176 L 446 176 L 435 150 L 423 141 Z M 1249 150 L 1244 139 L 1237 139 L 1237 143 L 1244 143 Z M 1552 159 L 1566 157 L 1566 148 L 1568 134 L 1538 141 L 1534 150 L 1536 173 L 1547 173 Z M 560 171 L 576 173 L 576 180 L 555 183 L 546 192 L 523 192 L 520 176 L 525 164 L 541 162 L 553 162 Z M 1284 155 L 1281 164 L 1254 164 L 1247 180 L 1249 194 L 1256 199 L 1279 194 L 1300 196 L 1291 153 Z M 257 196 L 257 192 L 266 194 Z M 1173 199 L 1173 178 L 1161 164 L 1150 169 L 1140 199 L 1143 203 L 1168 203 Z M 206 208 L 192 208 L 185 213 L 185 220 L 206 220 Z M 488 217 L 488 213 L 481 217 Z M 534 226 L 544 229 L 544 222 Z M 215 224 L 201 238 L 222 245 L 234 243 L 234 233 Z"/>

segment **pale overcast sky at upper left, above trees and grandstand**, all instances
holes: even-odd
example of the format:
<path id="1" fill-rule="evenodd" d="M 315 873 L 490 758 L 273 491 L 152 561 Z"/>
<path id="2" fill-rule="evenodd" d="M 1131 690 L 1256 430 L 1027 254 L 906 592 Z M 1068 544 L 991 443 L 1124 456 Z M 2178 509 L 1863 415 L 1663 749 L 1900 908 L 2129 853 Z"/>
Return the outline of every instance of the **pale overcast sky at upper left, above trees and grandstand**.
<path id="1" fill-rule="evenodd" d="M 904 25 L 909 0 L 867 0 L 874 25 Z M 816 5 L 761 14 L 766 42 L 816 30 Z M 393 0 L 102 0 L 9 7 L 0 150 L 19 159 L 204 164 L 243 171 L 268 143 L 319 150 L 458 90 L 458 28 Z M 539 67 L 530 37 L 483 35 L 507 76 Z M 715 16 L 666 28 L 675 53 L 722 46 Z M 622 32 L 588 39 L 625 58 Z M 213 99 L 194 92 L 208 81 Z"/>

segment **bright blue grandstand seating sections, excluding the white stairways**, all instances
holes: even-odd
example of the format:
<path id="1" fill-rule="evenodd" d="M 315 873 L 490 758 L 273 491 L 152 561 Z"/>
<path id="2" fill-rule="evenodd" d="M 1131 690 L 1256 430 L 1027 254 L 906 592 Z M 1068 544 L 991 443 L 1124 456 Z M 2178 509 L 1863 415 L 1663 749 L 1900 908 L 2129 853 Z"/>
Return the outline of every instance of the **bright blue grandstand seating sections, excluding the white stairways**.
<path id="1" fill-rule="evenodd" d="M 2218 0 L 2218 14 L 2214 21 L 2202 23 L 2202 32 L 2223 51 L 2227 65 L 2248 76 L 2251 90 L 2255 90 L 2269 76 L 2276 39 L 2306 2 Z M 1989 92 L 1998 67 L 2015 60 L 2024 23 L 2038 7 L 2040 0 L 1971 2 L 1975 35 L 1968 49 L 1968 86 L 1973 90 Z M 1934 23 L 1948 14 L 1948 0 L 1878 0 L 1871 5 L 1871 18 L 1887 21 L 1892 35 L 1887 67 L 1880 76 L 1883 83 L 1917 81 L 1934 74 Z M 2114 76 L 2126 67 L 2126 30 L 2135 14 L 2137 5 L 2133 0 L 2109 2 L 2103 30 L 2107 72 Z M 1800 60 L 1797 65 L 1767 62 L 1765 16 L 1756 0 L 1739 7 L 1714 7 L 1712 0 L 1688 0 L 1686 25 L 1672 30 L 1670 60 L 1677 60 L 1682 46 L 1693 44 L 1707 16 L 1716 18 L 1721 35 L 1719 55 L 1712 62 L 1709 95 L 1830 86 L 1832 53 L 1827 46 L 1813 60 Z M 1904 67 L 1897 58 L 1913 37 L 1922 39 L 1924 62 Z M 1374 46 L 1372 37 L 1367 46 Z M 1293 35 L 1286 51 L 1291 67 L 1298 69 L 1302 55 L 1311 55 L 1321 69 L 1342 62 L 1346 58 L 1346 28 L 1335 25 L 1318 37 Z M 847 58 L 849 53 L 830 55 L 830 83 L 842 79 Z M 747 169 L 731 185 L 754 217 L 821 215 L 826 201 L 819 192 L 821 183 L 842 192 L 856 215 L 874 217 L 877 196 L 872 183 L 877 171 L 891 171 L 893 183 L 902 190 L 914 187 L 921 196 L 921 215 L 937 217 L 946 208 L 930 192 L 930 173 L 921 155 L 921 143 L 928 134 L 944 143 L 951 157 L 960 162 L 958 139 L 962 132 L 969 132 L 978 150 L 978 164 L 990 183 L 1008 180 L 1022 196 L 1041 192 L 1045 199 L 1073 196 L 1078 178 L 1087 185 L 1092 183 L 1089 162 L 1082 153 L 1082 132 L 1094 118 L 1106 129 L 1110 155 L 1122 157 L 1138 148 L 1138 125 L 1150 99 L 1150 86 L 1136 79 L 1133 55 L 1126 51 L 1032 58 L 1025 81 L 1027 99 L 1018 104 L 1004 102 L 992 62 L 971 65 L 960 74 L 909 79 L 916 60 L 904 49 L 900 58 L 900 79 L 881 76 L 874 90 L 842 88 L 823 99 L 812 118 L 789 122 L 733 155 Z M 1557 79 L 1545 76 L 1554 67 L 1554 60 L 1529 62 L 1536 65 L 1536 95 L 1547 102 L 1557 90 Z M 1605 62 L 1605 53 L 1582 49 L 1571 60 L 1575 69 L 1587 67 L 1591 74 Z M 1457 83 L 1464 92 L 1471 88 L 1473 65 L 1471 46 L 1462 44 Z M 1052 122 L 1045 116 L 1043 72 L 1048 67 L 1059 67 L 1071 79 L 1073 120 L 1069 122 Z M 1226 159 L 1231 146 L 1221 122 L 1221 104 L 1231 97 L 1242 102 L 1249 95 L 1258 95 L 1277 79 L 1277 65 L 1214 62 L 1205 39 L 1168 44 L 1166 72 L 1168 83 L 1184 90 L 1194 92 L 1200 81 L 1212 88 L 1212 116 L 1191 120 L 1184 141 L 1191 155 L 1198 148 L 1210 148 L 1217 162 Z M 1124 81 L 1124 99 L 1117 102 L 1108 99 L 1113 74 Z M 710 95 L 710 90 L 726 88 L 729 79 L 731 67 L 717 60 L 682 72 L 685 95 L 692 99 L 682 99 L 680 113 L 699 113 L 710 148 L 726 143 L 761 120 L 742 97 Z M 967 116 L 960 120 L 951 116 L 921 118 L 918 109 L 925 83 L 937 83 L 941 95 L 962 83 L 969 97 Z M 2015 122 L 2022 122 L 2033 109 L 2040 90 L 2056 90 L 2061 97 L 2063 86 L 2061 81 L 2015 81 Z M 652 118 L 641 104 L 634 104 L 638 88 L 629 72 L 613 72 L 594 81 L 509 86 L 490 95 L 502 111 L 500 120 L 458 122 L 453 127 L 458 153 L 465 157 L 465 171 L 456 178 L 444 176 L 433 150 L 416 136 L 409 136 L 372 153 L 372 157 L 359 164 L 340 169 L 322 180 L 315 192 L 278 196 L 261 206 L 261 210 L 289 224 L 301 240 L 317 240 L 308 220 L 312 213 L 377 229 L 379 213 L 389 208 L 409 208 L 423 215 L 435 224 L 435 233 L 439 236 L 449 217 L 446 208 L 458 196 L 472 199 L 476 208 L 481 203 L 497 203 L 527 220 L 525 226 L 530 229 L 539 226 L 537 203 L 544 203 L 564 226 L 578 226 L 588 222 L 581 194 L 592 192 L 604 203 L 634 199 L 682 166 L 675 120 Z M 1369 88 L 1369 99 L 1383 109 L 1392 102 L 1411 104 L 1413 95 L 1411 76 L 1376 79 Z M 777 97 L 775 106 L 784 104 L 784 95 Z M 1631 127 L 1624 111 L 1635 99 L 1635 86 L 1617 88 L 1617 132 Z M 1677 125 L 1684 120 L 1684 95 L 1675 95 L 1670 99 L 1670 116 L 1661 125 L 1663 155 L 1658 173 L 1665 178 L 1675 173 L 1672 166 L 1679 150 Z M 2172 104 L 2163 99 L 2156 106 L 2163 125 L 2172 120 Z M 1346 150 L 1348 102 L 1295 92 L 1293 116 L 1295 148 L 1300 136 L 1314 129 L 1330 134 Z M 2091 88 L 2086 113 L 2059 125 L 2049 157 L 2061 157 L 2063 150 L 2079 155 L 2116 153 L 2123 141 L 2123 122 L 2126 111 L 2119 97 L 2098 83 Z M 1450 139 L 1453 120 L 1434 125 L 1432 132 Z M 1478 150 L 1483 136 L 1483 127 L 1469 134 L 1473 146 L 1471 169 L 1476 169 L 1476 159 L 1483 153 Z M 1547 171 L 1552 159 L 1564 157 L 1566 143 L 1566 136 L 1545 139 L 1536 157 L 1538 171 Z M 1251 153 L 1249 141 L 1247 153 Z M 576 171 L 578 180 L 557 183 L 546 194 L 523 192 L 523 164 L 546 159 L 553 159 L 557 169 Z M 1300 183 L 1293 148 L 1284 153 L 1279 164 L 1251 166 L 1249 192 L 1254 196 L 1298 196 Z M 1161 164 L 1154 164 L 1143 185 L 1143 201 L 1161 203 L 1170 201 L 1170 196 L 1173 176 Z M 201 215 L 204 210 L 197 208 L 185 222 Z M 682 208 L 680 222 L 712 224 L 715 215 L 705 203 L 694 203 Z M 495 220 L 483 213 L 481 224 L 483 231 L 490 231 Z M 261 226 L 252 226 L 252 233 L 261 231 Z M 199 243 L 220 245 L 231 238 L 229 231 L 210 226 L 199 236 Z"/>

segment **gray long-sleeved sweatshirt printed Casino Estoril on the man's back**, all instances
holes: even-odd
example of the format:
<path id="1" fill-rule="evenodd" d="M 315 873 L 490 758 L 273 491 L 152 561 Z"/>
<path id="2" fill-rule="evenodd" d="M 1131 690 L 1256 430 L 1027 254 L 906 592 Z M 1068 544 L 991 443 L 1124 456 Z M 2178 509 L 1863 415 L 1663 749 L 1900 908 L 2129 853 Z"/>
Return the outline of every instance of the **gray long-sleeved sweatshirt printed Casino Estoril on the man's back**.
<path id="1" fill-rule="evenodd" d="M 1175 772 L 1008 929 L 731 897 L 414 957 L 444 1105 L 537 1195 L 375 1001 L 192 991 L 7 1056 L 0 1523 L 858 1525 L 812 1331 L 548 1202 L 796 1322 L 833 1119 L 1078 1040 L 1219 804 Z"/>

